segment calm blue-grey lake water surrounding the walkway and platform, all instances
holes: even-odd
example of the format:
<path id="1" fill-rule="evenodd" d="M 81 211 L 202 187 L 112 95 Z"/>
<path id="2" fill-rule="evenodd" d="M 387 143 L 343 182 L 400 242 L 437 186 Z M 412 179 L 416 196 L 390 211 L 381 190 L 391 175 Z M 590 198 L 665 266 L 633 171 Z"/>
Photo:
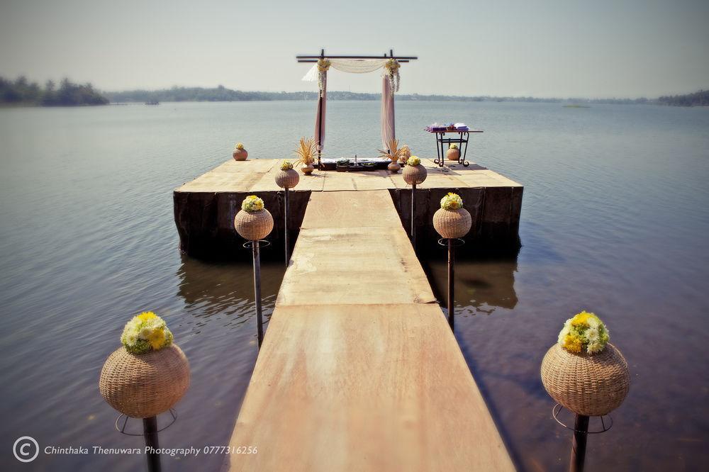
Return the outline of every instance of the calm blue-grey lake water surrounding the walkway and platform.
<path id="1" fill-rule="evenodd" d="M 289 157 L 311 102 L 0 110 L 0 468 L 135 471 L 143 456 L 40 454 L 40 446 L 140 447 L 113 423 L 99 371 L 123 324 L 155 310 L 191 363 L 161 446 L 227 444 L 257 348 L 244 264 L 182 257 L 172 190 L 230 159 Z M 525 185 L 517 258 L 457 264 L 456 336 L 522 470 L 563 470 L 570 432 L 539 376 L 566 318 L 610 327 L 632 386 L 615 425 L 588 440 L 589 470 L 692 471 L 709 464 L 709 109 L 557 103 L 397 103 L 397 135 L 435 155 L 421 128 L 485 130 L 471 160 Z M 264 130 L 270 130 L 264 133 Z M 328 103 L 327 154 L 374 154 L 379 102 Z M 434 286 L 445 266 L 429 262 Z M 271 313 L 283 276 L 264 268 Z M 134 427 L 140 427 L 138 422 Z M 473 441 L 473 439 L 471 439 Z M 323 451 L 327 454 L 327 451 Z M 163 457 L 166 471 L 220 456 Z"/>

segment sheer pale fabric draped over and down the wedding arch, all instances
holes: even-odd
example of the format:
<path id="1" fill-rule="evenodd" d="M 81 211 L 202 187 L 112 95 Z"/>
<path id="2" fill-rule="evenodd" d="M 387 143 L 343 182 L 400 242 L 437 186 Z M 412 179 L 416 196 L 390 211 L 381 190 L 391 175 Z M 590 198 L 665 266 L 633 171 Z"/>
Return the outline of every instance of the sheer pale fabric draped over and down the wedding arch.
<path id="1" fill-rule="evenodd" d="M 383 57 L 381 59 L 330 59 L 330 67 L 342 72 L 351 74 L 366 74 L 382 69 L 382 89 L 381 89 L 381 143 L 383 149 L 389 149 L 389 142 L 396 137 L 394 132 L 394 96 L 391 90 L 391 81 L 386 75 L 384 64 L 391 59 Z M 318 64 L 314 64 L 303 76 L 306 82 L 318 82 Z M 327 82 L 328 72 L 323 72 L 323 81 L 320 82 L 320 95 L 318 96 L 318 114 L 315 121 L 315 140 L 318 150 L 322 151 L 325 144 L 325 104 L 327 103 Z"/>

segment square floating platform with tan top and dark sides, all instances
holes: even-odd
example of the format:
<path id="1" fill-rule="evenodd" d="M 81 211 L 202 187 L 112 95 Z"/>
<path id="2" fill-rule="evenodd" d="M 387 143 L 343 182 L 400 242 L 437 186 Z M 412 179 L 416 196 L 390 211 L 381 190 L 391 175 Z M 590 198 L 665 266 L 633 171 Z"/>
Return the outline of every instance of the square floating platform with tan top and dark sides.
<path id="1" fill-rule="evenodd" d="M 230 160 L 176 189 L 174 218 L 182 252 L 201 258 L 250 257 L 240 249 L 242 240 L 234 230 L 233 220 L 242 200 L 253 193 L 264 199 L 274 216 L 274 231 L 269 240 L 282 244 L 283 191 L 274 182 L 280 163 L 280 159 Z M 428 179 L 416 189 L 418 247 L 435 244 L 438 236 L 431 223 L 433 213 L 439 208 L 445 193 L 454 191 L 462 196 L 465 208 L 473 216 L 474 227 L 466 240 L 479 243 L 464 245 L 459 255 L 464 256 L 465 252 L 481 244 L 514 250 L 519 248 L 523 186 L 474 163 L 469 167 L 447 164 L 448 172 L 443 172 L 430 159 L 422 159 L 422 164 L 428 169 Z M 291 241 L 295 240 L 311 193 L 374 190 L 389 191 L 401 223 L 404 227 L 410 227 L 411 186 L 403 181 L 401 173 L 316 170 L 311 176 L 301 175 L 300 183 L 291 192 Z M 328 211 L 331 211 L 328 218 L 342 218 L 342 213 L 352 213 L 357 209 L 345 202 Z M 366 219 L 374 218 L 376 213 L 367 211 Z M 264 251 L 263 255 L 269 257 L 269 251 Z"/>

